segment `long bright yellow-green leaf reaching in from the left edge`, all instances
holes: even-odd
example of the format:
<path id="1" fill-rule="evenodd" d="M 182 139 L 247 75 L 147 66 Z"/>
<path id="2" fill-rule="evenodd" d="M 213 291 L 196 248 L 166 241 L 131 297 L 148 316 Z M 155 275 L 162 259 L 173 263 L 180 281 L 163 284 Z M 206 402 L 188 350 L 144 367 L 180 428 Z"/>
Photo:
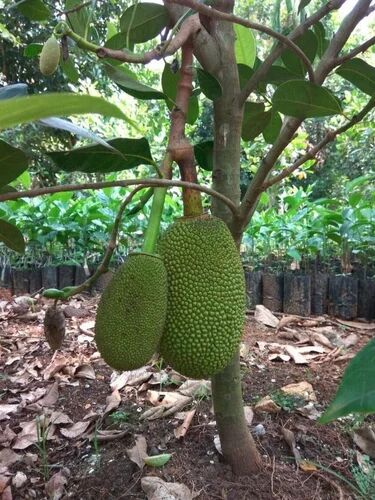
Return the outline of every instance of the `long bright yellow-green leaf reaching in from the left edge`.
<path id="1" fill-rule="evenodd" d="M 50 93 L 17 97 L 0 102 L 0 130 L 50 116 L 98 113 L 127 121 L 138 127 L 114 104 L 101 97 L 83 94 Z"/>

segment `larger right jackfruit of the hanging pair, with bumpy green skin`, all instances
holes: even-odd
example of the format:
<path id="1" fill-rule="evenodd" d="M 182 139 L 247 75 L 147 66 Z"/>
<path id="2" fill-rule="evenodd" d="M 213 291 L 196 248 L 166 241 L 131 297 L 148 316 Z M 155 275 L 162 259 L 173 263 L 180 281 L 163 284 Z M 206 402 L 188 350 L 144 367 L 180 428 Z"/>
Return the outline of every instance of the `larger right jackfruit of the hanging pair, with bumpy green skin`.
<path id="1" fill-rule="evenodd" d="M 232 235 L 221 219 L 183 218 L 159 251 L 168 274 L 160 354 L 187 377 L 214 375 L 232 359 L 245 319 L 244 273 Z"/>

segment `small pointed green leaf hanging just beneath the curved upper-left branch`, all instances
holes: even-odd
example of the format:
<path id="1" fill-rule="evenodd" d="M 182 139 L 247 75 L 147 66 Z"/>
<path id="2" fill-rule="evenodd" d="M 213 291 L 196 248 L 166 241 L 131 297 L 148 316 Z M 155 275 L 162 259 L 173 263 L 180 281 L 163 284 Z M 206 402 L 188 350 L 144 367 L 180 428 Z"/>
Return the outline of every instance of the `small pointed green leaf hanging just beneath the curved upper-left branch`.
<path id="1" fill-rule="evenodd" d="M 109 78 L 113 80 L 121 90 L 137 99 L 165 99 L 166 96 L 160 90 L 153 89 L 148 85 L 144 85 L 136 78 L 134 73 L 128 70 L 125 66 L 114 67 L 110 64 L 105 65 L 105 70 Z"/>

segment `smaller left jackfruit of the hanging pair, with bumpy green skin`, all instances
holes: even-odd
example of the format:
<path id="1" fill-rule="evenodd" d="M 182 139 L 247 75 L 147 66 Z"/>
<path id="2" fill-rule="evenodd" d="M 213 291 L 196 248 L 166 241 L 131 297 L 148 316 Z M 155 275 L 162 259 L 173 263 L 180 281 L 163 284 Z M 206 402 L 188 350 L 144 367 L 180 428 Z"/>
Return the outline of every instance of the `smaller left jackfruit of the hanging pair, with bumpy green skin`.
<path id="1" fill-rule="evenodd" d="M 131 254 L 105 288 L 96 313 L 95 340 L 116 370 L 144 366 L 158 350 L 167 311 L 167 273 L 156 255 Z"/>

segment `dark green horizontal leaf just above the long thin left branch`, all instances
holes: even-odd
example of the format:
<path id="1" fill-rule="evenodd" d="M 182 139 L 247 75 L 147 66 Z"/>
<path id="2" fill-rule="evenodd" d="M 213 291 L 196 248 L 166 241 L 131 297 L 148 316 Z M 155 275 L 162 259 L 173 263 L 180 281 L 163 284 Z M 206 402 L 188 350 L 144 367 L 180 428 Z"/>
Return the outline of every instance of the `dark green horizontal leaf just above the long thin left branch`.
<path id="1" fill-rule="evenodd" d="M 112 139 L 108 144 L 117 151 L 111 151 L 100 144 L 47 153 L 59 169 L 65 172 L 117 172 L 152 165 L 150 146 L 147 139 Z"/>

